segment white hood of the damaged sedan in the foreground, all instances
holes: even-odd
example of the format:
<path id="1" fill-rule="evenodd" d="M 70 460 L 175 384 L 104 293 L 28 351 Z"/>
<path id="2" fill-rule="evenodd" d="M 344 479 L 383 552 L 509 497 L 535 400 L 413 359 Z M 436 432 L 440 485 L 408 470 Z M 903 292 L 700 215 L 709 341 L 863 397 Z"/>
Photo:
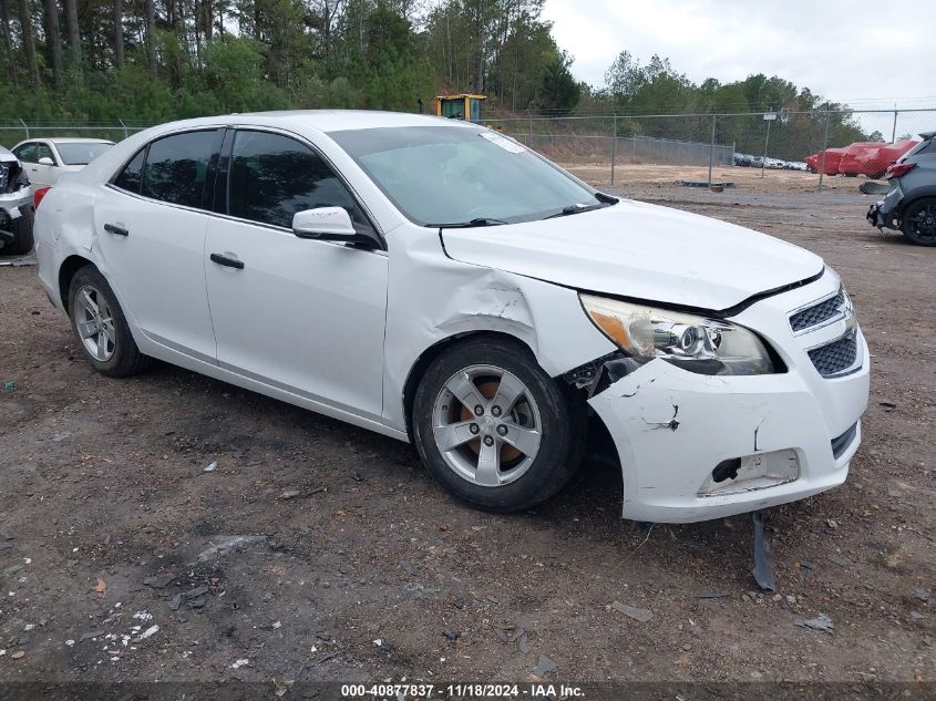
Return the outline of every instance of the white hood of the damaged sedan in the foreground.
<path id="1" fill-rule="evenodd" d="M 823 269 L 819 256 L 765 234 L 631 200 L 539 221 L 443 229 L 442 240 L 462 262 L 710 310 Z"/>

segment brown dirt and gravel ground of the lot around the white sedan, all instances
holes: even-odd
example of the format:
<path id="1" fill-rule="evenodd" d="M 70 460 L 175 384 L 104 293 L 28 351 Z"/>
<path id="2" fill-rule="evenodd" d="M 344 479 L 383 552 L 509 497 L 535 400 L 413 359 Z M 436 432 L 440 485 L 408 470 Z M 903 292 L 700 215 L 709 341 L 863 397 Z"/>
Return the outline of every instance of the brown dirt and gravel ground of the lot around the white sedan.
<path id="1" fill-rule="evenodd" d="M 402 443 L 165 364 L 96 374 L 35 268 L 3 267 L 0 681 L 932 682 L 936 249 L 844 190 L 623 192 L 816 251 L 858 310 L 864 444 L 769 513 L 776 596 L 750 516 L 621 520 L 598 463 L 535 512 L 472 511 Z"/>

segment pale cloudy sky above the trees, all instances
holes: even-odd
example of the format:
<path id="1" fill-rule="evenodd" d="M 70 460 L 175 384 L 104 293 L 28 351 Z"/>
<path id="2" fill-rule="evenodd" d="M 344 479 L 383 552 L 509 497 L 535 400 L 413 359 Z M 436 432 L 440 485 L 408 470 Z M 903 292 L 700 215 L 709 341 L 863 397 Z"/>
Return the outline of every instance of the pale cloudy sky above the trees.
<path id="1" fill-rule="evenodd" d="M 546 0 L 544 17 L 593 85 L 627 49 L 696 83 L 775 74 L 853 107 L 936 107 L 934 0 Z"/>

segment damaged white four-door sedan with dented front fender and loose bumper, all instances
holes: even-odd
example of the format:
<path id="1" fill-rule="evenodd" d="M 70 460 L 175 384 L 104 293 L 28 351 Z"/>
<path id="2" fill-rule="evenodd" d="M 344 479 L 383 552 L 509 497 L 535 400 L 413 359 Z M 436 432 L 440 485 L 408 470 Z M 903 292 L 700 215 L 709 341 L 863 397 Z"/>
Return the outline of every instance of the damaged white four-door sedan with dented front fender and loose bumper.
<path id="1" fill-rule="evenodd" d="M 562 489 L 589 419 L 652 522 L 816 494 L 861 440 L 867 347 L 819 257 L 472 124 L 166 124 L 63 177 L 35 229 L 101 372 L 158 358 L 412 441 L 482 508 Z"/>

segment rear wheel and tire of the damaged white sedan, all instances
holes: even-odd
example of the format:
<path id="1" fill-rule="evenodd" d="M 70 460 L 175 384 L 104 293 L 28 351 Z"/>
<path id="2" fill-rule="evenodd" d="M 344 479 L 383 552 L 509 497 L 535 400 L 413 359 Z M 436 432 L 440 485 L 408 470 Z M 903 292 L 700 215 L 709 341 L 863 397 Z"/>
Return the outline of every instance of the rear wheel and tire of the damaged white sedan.
<path id="1" fill-rule="evenodd" d="M 69 286 L 69 317 L 79 346 L 97 372 L 126 378 L 148 364 L 150 359 L 133 340 L 114 291 L 94 266 L 84 266 L 74 274 Z"/>

